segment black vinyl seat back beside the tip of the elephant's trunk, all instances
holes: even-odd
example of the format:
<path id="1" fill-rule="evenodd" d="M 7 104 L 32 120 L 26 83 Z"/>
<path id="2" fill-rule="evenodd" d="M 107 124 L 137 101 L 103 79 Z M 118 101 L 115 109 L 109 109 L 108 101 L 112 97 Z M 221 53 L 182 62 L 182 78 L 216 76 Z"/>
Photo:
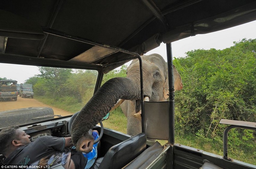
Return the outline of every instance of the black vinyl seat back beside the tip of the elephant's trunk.
<path id="1" fill-rule="evenodd" d="M 104 157 L 95 160 L 91 169 L 120 169 L 139 156 L 146 149 L 146 144 L 146 134 L 139 133 L 132 138 L 112 146 Z"/>

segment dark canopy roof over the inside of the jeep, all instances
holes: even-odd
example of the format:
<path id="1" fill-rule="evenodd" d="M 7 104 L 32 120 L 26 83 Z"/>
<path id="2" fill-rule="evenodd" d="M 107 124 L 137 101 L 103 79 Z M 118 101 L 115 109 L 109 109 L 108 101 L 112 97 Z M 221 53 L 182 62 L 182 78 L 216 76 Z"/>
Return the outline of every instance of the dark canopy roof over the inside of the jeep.
<path id="1" fill-rule="evenodd" d="M 107 73 L 160 43 L 256 19 L 256 1 L 0 1 L 0 62 Z"/>

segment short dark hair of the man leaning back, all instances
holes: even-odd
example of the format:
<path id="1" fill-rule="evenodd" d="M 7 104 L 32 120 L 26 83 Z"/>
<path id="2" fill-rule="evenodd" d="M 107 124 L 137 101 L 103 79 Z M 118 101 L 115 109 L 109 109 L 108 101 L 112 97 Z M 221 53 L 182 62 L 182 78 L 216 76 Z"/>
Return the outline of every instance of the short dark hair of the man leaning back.
<path id="1" fill-rule="evenodd" d="M 0 131 L 0 153 L 4 154 L 9 147 L 11 142 L 17 138 L 16 130 L 19 126 L 11 126 Z"/>

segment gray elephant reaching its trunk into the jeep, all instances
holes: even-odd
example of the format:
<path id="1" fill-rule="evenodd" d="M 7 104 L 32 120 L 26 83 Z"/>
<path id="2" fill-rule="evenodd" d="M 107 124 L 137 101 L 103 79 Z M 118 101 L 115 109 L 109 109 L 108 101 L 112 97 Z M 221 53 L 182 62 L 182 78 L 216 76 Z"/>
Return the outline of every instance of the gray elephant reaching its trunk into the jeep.
<path id="1" fill-rule="evenodd" d="M 167 63 L 161 55 L 143 55 L 142 73 L 144 97 L 149 101 L 164 101 L 168 98 L 168 71 Z M 183 87 L 176 68 L 174 69 L 174 89 Z M 80 152 L 92 150 L 93 138 L 88 134 L 113 107 L 121 106 L 127 117 L 127 134 L 135 135 L 141 132 L 141 118 L 133 117 L 140 111 L 140 74 L 139 61 L 135 59 L 127 67 L 126 78 L 116 77 L 102 85 L 81 109 L 73 120 L 71 138 L 73 145 Z"/>

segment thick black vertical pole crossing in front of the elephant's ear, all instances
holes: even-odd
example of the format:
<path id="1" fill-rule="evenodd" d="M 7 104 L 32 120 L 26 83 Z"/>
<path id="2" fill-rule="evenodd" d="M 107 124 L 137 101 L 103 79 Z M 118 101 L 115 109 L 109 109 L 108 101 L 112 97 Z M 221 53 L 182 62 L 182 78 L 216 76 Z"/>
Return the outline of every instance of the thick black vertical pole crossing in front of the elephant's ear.
<path id="1" fill-rule="evenodd" d="M 169 79 L 169 143 L 174 144 L 174 78 L 171 43 L 166 44 L 168 79 Z"/>

